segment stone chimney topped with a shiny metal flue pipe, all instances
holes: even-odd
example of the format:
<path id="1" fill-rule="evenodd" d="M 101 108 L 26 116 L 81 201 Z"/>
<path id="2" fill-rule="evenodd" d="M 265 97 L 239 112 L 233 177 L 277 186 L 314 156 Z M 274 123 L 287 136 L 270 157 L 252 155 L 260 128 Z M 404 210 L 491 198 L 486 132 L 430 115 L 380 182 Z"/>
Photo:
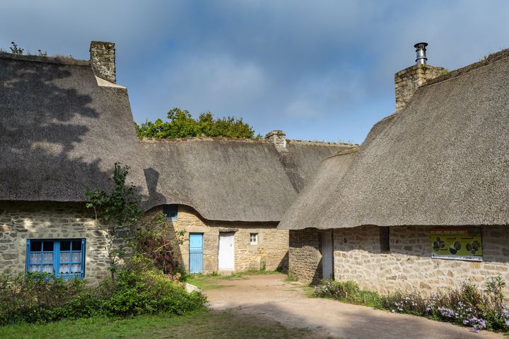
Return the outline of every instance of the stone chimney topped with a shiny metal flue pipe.
<path id="1" fill-rule="evenodd" d="M 394 74 L 394 87 L 396 90 L 396 112 L 402 110 L 406 103 L 414 96 L 417 88 L 426 81 L 447 73 L 443 67 L 430 66 L 426 64 L 426 42 L 419 42 L 414 45 L 416 48 L 416 64 Z"/>

